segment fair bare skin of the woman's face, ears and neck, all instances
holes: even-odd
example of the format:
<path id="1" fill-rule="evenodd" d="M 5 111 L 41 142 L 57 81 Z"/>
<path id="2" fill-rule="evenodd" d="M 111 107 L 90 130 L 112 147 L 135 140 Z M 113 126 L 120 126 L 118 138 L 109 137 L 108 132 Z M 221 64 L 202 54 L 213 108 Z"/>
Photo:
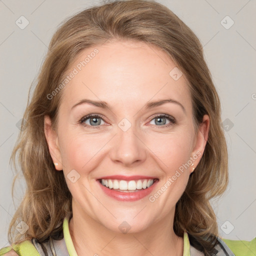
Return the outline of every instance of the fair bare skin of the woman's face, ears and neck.
<path id="1" fill-rule="evenodd" d="M 77 55 L 69 72 L 95 47 Z M 78 255 L 182 255 L 183 237 L 173 231 L 175 204 L 182 195 L 192 168 L 204 150 L 209 117 L 195 131 L 192 102 L 184 75 L 174 80 L 169 72 L 175 67 L 166 53 L 144 42 L 111 41 L 96 47 L 99 52 L 63 88 L 56 131 L 45 116 L 45 137 L 56 170 L 62 170 L 72 194 L 73 216 L 69 230 Z M 68 73 L 68 72 L 67 72 Z M 110 109 L 88 103 L 71 107 L 87 98 L 102 100 Z M 148 101 L 172 98 L 146 109 Z M 98 128 L 87 127 L 90 113 L 103 119 Z M 154 115 L 168 114 L 167 127 Z M 123 131 L 118 123 L 126 118 L 131 127 Z M 95 126 L 94 126 L 95 127 Z M 194 165 L 179 177 L 154 202 L 148 196 L 137 201 L 118 201 L 106 195 L 96 179 L 104 175 L 157 176 L 154 194 L 179 166 L 200 152 Z M 80 175 L 71 182 L 67 174 L 75 169 Z M 195 170 L 196 171 L 196 170 Z M 124 234 L 118 226 L 126 221 Z"/>

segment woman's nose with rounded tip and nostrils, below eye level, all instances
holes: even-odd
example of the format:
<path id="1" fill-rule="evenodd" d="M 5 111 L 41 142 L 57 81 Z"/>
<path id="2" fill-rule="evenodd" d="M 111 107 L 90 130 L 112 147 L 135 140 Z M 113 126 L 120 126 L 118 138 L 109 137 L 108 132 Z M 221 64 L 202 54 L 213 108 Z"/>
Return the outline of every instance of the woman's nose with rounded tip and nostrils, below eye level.
<path id="1" fill-rule="evenodd" d="M 142 135 L 132 125 L 126 131 L 117 127 L 110 158 L 126 167 L 141 164 L 146 159 L 146 145 L 143 143 Z"/>

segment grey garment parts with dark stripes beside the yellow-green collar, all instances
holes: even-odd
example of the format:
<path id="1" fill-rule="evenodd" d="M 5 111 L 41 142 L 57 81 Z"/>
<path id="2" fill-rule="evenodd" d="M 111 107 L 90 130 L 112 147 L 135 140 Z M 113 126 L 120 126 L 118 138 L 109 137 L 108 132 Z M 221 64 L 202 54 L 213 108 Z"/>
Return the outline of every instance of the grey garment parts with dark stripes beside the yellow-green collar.
<path id="1" fill-rule="evenodd" d="M 225 242 L 217 237 L 219 243 L 215 246 L 217 253 L 215 256 L 235 256 Z M 50 237 L 46 242 L 39 243 L 35 238 L 32 243 L 39 252 L 40 256 L 69 256 L 64 237 L 60 240 L 55 240 Z M 197 250 L 190 244 L 190 256 L 204 256 L 203 253 Z"/>

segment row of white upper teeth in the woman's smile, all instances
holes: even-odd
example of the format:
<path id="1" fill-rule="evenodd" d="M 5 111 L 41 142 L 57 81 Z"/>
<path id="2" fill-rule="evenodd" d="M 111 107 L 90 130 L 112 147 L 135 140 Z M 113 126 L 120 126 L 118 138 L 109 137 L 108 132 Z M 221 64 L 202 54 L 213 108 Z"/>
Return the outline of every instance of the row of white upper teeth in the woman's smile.
<path id="1" fill-rule="evenodd" d="M 113 189 L 120 190 L 136 190 L 145 189 L 153 184 L 153 179 L 138 179 L 138 180 L 117 180 L 117 179 L 101 179 L 101 184 Z"/>

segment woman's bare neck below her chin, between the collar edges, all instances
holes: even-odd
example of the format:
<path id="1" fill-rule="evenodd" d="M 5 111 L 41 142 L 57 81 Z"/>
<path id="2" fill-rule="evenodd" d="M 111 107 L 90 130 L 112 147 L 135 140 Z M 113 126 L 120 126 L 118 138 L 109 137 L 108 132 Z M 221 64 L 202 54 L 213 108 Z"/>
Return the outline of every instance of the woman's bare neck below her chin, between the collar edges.
<path id="1" fill-rule="evenodd" d="M 106 228 L 75 209 L 74 207 L 69 221 L 69 232 L 79 256 L 183 254 L 183 237 L 176 236 L 173 231 L 174 213 L 140 232 L 123 234 Z"/>

